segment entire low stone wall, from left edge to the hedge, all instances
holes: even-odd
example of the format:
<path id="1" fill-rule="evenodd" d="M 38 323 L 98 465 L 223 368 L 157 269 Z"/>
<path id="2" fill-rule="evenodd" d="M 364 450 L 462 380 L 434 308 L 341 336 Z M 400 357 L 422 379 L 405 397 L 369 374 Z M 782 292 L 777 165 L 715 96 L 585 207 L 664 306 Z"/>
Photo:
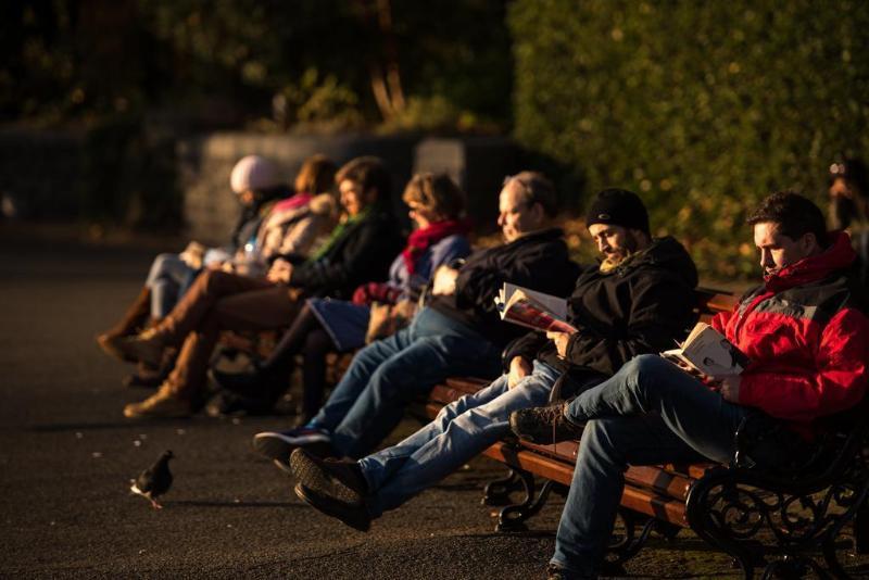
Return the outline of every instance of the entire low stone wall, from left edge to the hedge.
<path id="1" fill-rule="evenodd" d="M 520 168 L 520 152 L 503 138 L 164 133 L 154 137 L 135 126 L 0 131 L 0 215 L 14 212 L 23 219 L 78 219 L 155 232 L 184 224 L 189 238 L 222 244 L 239 213 L 229 174 L 240 157 L 272 159 L 291 184 L 306 157 L 324 153 L 338 164 L 358 155 L 383 159 L 393 176 L 393 209 L 404 218 L 401 193 L 411 175 L 446 172 L 468 193 L 468 214 L 477 229 L 487 230 L 493 228 L 504 176 Z"/>

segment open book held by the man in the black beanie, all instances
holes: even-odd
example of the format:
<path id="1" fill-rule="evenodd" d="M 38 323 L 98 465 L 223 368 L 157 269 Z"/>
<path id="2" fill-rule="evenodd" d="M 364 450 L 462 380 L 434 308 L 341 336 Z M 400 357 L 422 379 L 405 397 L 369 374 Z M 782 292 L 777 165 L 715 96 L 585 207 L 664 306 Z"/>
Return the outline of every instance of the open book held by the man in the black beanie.
<path id="1" fill-rule="evenodd" d="M 534 330 L 576 332 L 567 321 L 567 301 L 509 282 L 499 290 L 495 305 L 502 320 Z"/>

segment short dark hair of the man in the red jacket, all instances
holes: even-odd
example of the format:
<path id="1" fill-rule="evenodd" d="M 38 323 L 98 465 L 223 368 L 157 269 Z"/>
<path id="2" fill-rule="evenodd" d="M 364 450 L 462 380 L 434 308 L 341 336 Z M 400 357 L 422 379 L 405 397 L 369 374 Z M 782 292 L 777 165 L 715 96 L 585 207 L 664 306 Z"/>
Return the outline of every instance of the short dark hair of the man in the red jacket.
<path id="1" fill-rule="evenodd" d="M 818 245 L 827 245 L 823 213 L 810 200 L 793 191 L 779 191 L 767 197 L 745 222 L 750 226 L 768 222 L 777 224 L 779 234 L 792 240 L 814 234 Z"/>

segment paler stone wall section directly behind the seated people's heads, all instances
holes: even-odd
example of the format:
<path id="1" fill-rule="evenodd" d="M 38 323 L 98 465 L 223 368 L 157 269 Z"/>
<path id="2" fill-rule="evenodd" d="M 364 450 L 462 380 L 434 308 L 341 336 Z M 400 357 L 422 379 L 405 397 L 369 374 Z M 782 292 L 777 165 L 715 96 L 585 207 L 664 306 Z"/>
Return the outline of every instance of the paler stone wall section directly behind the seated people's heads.
<path id="1" fill-rule="evenodd" d="M 518 151 L 496 138 L 423 139 L 416 137 L 287 137 L 212 134 L 180 142 L 178 160 L 185 191 L 184 213 L 191 238 L 223 243 L 239 207 L 229 174 L 240 157 L 266 156 L 279 164 L 287 182 L 305 157 L 324 153 L 339 165 L 358 155 L 383 159 L 393 176 L 393 207 L 403 216 L 404 184 L 413 172 L 446 172 L 468 192 L 468 214 L 489 229 L 498 215 L 498 192 L 505 175 L 517 171 Z"/>

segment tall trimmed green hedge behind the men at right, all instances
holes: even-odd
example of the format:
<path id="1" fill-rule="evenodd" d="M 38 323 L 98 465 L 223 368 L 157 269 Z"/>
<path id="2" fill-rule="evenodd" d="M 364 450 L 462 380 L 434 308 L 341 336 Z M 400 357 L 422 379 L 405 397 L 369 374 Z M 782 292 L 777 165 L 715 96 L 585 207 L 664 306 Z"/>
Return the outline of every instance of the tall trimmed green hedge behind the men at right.
<path id="1" fill-rule="evenodd" d="M 823 204 L 831 161 L 869 151 L 864 0 L 516 0 L 508 25 L 520 142 L 587 196 L 641 193 L 709 277 L 757 273 L 758 199 Z"/>

